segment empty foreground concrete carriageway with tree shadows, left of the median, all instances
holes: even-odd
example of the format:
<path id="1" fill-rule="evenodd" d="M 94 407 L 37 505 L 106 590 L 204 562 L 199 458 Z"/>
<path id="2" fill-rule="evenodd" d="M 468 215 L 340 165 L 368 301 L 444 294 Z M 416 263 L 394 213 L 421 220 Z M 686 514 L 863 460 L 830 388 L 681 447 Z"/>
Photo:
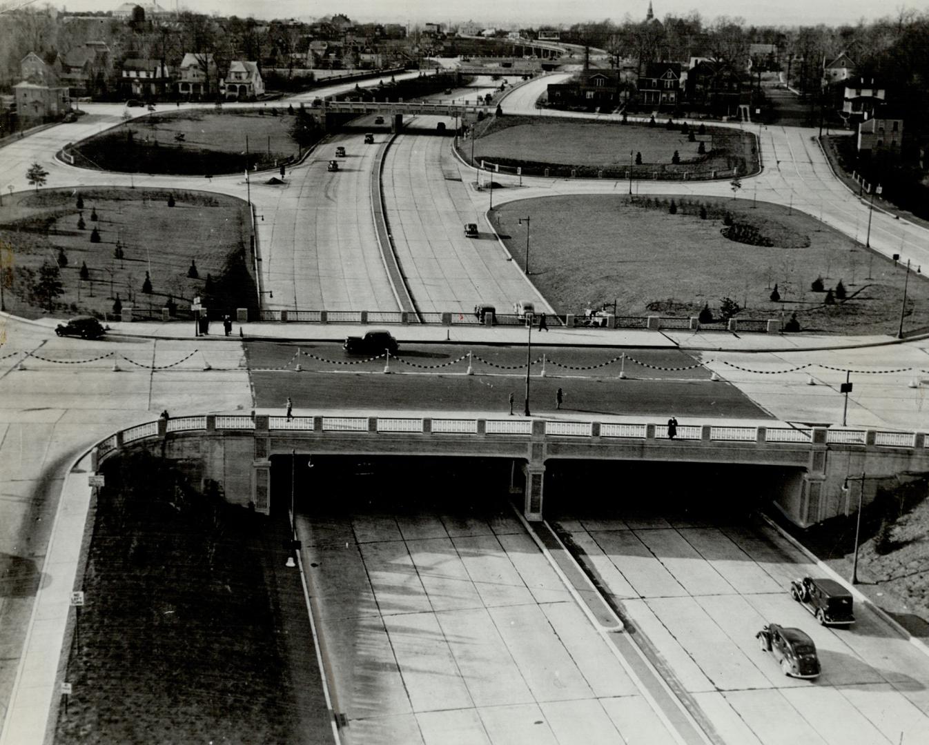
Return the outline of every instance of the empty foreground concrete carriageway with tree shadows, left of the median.
<path id="1" fill-rule="evenodd" d="M 441 504 L 414 481 L 400 509 L 381 502 L 396 492 L 380 480 L 314 477 L 297 497 L 343 742 L 674 741 L 505 504 L 505 477 L 475 499 L 444 476 Z"/>

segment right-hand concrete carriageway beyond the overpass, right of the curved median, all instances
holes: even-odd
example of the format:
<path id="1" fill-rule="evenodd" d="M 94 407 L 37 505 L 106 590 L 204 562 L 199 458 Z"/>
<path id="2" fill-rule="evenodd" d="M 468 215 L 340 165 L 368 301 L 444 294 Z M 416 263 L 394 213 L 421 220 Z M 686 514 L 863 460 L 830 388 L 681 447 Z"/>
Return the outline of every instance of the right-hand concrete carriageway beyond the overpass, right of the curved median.
<path id="1" fill-rule="evenodd" d="M 405 133 L 385 159 L 387 220 L 417 307 L 469 313 L 491 303 L 509 312 L 520 299 L 548 307 L 487 229 L 483 209 L 470 203 L 470 184 L 450 149 L 448 138 Z M 477 239 L 464 236 L 468 222 L 478 224 Z"/>

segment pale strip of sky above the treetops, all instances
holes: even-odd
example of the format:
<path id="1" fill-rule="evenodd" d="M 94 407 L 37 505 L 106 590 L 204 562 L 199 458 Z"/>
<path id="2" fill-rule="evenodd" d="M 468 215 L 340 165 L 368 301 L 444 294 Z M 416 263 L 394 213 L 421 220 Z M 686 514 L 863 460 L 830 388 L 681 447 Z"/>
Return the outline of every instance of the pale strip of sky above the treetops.
<path id="1" fill-rule="evenodd" d="M 174 9 L 175 0 L 158 0 L 158 4 Z M 20 5 L 3 3 L 5 6 Z M 38 3 L 34 4 L 39 5 Z M 68 10 L 113 10 L 120 0 L 70 0 L 53 2 L 54 7 Z M 306 0 L 178 0 L 178 5 L 199 13 L 225 16 L 255 16 L 257 19 L 321 18 L 334 13 L 345 13 L 360 21 L 382 20 L 394 23 L 448 23 L 474 20 L 484 25 L 520 26 L 539 24 L 578 23 L 587 20 L 622 22 L 626 14 L 633 20 L 645 18 L 648 0 L 631 0 L 626 3 L 604 4 L 599 0 L 355 0 L 352 3 L 307 2 Z M 929 0 L 909 3 L 869 2 L 869 0 L 821 0 L 810 4 L 808 0 L 780 0 L 778 3 L 746 3 L 744 0 L 715 0 L 712 4 L 696 4 L 694 0 L 653 0 L 655 16 L 667 14 L 682 16 L 699 10 L 705 21 L 718 16 L 740 16 L 747 23 L 765 26 L 800 26 L 825 23 L 827 25 L 854 24 L 857 20 L 875 20 L 883 16 L 895 17 L 898 7 L 929 10 Z M 33 6 L 34 7 L 34 6 Z"/>

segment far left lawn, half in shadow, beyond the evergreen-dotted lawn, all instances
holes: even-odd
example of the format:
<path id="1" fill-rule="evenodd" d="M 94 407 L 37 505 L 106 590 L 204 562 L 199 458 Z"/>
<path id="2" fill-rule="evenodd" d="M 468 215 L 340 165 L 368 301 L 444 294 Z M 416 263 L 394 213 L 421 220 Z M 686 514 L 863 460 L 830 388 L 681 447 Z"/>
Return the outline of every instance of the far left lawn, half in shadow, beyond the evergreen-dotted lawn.
<path id="1" fill-rule="evenodd" d="M 85 168 L 215 176 L 242 171 L 246 137 L 253 166 L 272 167 L 297 157 L 299 148 L 290 136 L 295 118 L 280 105 L 268 106 L 264 115 L 196 109 L 155 113 L 89 137 L 69 151 Z"/>

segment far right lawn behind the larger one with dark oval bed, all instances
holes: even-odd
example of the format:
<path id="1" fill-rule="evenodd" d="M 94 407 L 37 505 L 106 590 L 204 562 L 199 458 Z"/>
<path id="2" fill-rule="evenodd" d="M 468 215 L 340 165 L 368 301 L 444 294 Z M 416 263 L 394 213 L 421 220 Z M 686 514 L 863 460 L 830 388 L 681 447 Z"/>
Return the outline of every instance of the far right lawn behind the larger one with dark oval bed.
<path id="1" fill-rule="evenodd" d="M 582 176 L 596 175 L 584 169 L 594 172 L 604 169 L 607 173 L 625 176 L 630 166 L 630 152 L 642 153 L 641 165 L 635 165 L 633 156 L 634 176 L 652 178 L 658 171 L 665 177 L 683 178 L 684 173 L 708 177 L 712 171 L 731 174 L 737 166 L 742 174 L 747 168 L 755 170 L 755 137 L 751 132 L 706 126 L 703 135 L 697 134 L 695 129 L 695 137 L 695 142 L 688 142 L 687 134 L 679 127 L 668 130 L 661 123 L 651 127 L 648 124 L 504 116 L 494 117 L 483 129 L 478 124 L 474 152 L 478 161 L 525 164 L 536 169 L 576 167 Z M 698 153 L 701 141 L 707 151 L 705 155 Z M 462 148 L 470 155 L 469 143 L 464 143 Z M 674 150 L 680 157 L 678 165 L 671 162 Z"/>

